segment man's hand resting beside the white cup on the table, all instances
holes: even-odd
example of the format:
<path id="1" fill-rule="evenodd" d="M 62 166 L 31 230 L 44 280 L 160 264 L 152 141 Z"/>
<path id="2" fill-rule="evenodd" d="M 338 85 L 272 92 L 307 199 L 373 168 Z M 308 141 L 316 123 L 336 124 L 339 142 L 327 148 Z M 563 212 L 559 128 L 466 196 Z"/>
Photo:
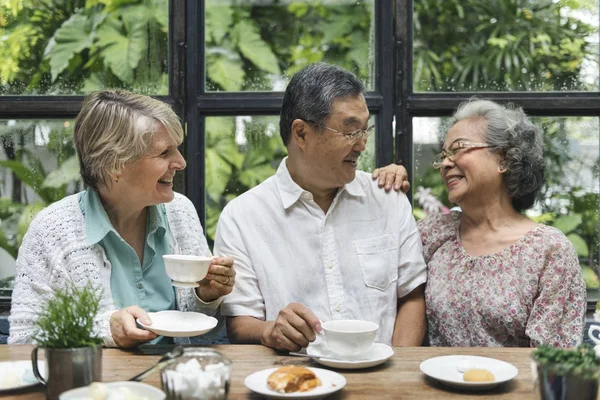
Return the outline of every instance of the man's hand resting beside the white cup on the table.
<path id="1" fill-rule="evenodd" d="M 263 331 L 261 343 L 278 350 L 298 351 L 316 339 L 321 321 L 306 306 L 290 303 Z"/>

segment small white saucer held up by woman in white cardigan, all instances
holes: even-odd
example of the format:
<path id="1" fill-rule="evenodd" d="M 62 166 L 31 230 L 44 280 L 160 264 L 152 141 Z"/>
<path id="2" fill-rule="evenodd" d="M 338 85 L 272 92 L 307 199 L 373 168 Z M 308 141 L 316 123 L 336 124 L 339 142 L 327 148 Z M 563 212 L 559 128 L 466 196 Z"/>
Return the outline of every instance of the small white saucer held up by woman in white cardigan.
<path id="1" fill-rule="evenodd" d="M 157 335 L 168 337 L 186 337 L 202 335 L 217 326 L 217 319 L 197 312 L 177 310 L 148 313 L 152 325 L 137 323 Z"/>

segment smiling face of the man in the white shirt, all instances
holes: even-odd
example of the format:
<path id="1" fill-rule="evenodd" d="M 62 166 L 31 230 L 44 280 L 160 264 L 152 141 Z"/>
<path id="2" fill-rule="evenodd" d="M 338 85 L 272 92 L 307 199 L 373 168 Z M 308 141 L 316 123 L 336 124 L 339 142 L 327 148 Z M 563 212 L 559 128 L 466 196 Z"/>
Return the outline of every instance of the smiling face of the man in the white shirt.
<path id="1" fill-rule="evenodd" d="M 331 114 L 323 126 L 338 132 L 366 129 L 369 109 L 362 95 L 333 102 Z M 358 157 L 367 139 L 349 140 L 340 133 L 316 125 L 306 125 L 304 162 L 311 184 L 319 190 L 331 190 L 352 182 Z"/>

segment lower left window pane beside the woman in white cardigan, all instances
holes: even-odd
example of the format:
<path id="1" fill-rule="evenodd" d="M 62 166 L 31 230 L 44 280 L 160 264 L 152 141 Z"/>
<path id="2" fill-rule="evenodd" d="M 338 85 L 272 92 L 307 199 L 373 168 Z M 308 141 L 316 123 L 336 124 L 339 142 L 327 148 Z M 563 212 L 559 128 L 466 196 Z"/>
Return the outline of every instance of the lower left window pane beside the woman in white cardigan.
<path id="1" fill-rule="evenodd" d="M 72 129 L 69 120 L 0 120 L 0 302 L 31 219 L 83 188 Z"/>

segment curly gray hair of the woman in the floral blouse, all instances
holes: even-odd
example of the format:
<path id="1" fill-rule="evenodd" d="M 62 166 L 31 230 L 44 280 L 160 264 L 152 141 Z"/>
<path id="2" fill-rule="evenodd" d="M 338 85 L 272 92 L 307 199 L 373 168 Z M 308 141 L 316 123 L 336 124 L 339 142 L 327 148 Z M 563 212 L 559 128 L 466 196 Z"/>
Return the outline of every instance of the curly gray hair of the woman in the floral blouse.
<path id="1" fill-rule="evenodd" d="M 483 118 L 483 138 L 493 147 L 489 151 L 501 156 L 506 168 L 504 185 L 512 206 L 521 212 L 531 208 L 541 195 L 544 184 L 544 149 L 542 134 L 513 105 L 502 106 L 489 100 L 473 99 L 462 103 L 453 116 L 453 123 L 465 119 Z"/>

